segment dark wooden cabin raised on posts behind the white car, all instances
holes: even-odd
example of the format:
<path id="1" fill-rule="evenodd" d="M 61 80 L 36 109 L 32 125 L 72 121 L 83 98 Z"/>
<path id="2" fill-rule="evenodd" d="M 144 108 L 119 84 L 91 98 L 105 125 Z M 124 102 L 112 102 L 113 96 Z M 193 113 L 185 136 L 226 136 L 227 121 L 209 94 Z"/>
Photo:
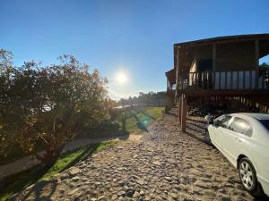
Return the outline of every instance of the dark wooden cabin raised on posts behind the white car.
<path id="1" fill-rule="evenodd" d="M 174 44 L 174 68 L 166 72 L 167 110 L 178 105 L 181 129 L 195 105 L 229 105 L 234 112 L 256 107 L 268 113 L 268 69 L 259 59 L 269 54 L 269 34 L 206 38 Z"/>

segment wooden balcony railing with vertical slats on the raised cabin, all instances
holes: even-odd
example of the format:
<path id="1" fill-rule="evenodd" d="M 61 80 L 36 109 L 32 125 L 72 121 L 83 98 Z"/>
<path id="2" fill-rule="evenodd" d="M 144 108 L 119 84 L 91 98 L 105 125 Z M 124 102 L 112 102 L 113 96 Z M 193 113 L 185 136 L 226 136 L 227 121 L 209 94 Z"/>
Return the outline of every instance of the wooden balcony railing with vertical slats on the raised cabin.
<path id="1" fill-rule="evenodd" d="M 178 89 L 265 90 L 269 71 L 203 71 L 180 74 Z"/>

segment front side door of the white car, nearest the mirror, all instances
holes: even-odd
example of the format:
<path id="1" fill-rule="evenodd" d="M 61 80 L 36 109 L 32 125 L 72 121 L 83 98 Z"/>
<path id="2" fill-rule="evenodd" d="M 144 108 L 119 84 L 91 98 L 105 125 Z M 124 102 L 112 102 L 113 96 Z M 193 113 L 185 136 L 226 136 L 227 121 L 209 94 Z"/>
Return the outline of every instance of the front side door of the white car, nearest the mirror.
<path id="1" fill-rule="evenodd" d="M 231 116 L 230 115 L 222 115 L 213 124 L 213 143 L 218 147 L 221 148 L 221 136 L 223 132 L 228 130 L 230 124 Z"/>

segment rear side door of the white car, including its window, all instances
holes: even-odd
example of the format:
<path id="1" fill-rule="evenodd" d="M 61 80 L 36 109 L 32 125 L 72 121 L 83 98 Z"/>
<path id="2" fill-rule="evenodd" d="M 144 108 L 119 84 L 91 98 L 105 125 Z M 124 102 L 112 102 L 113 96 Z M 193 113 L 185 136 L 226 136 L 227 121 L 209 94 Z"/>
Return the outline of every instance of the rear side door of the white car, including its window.
<path id="1" fill-rule="evenodd" d="M 244 142 L 244 135 L 251 131 L 250 123 L 242 118 L 234 117 L 229 128 L 222 133 L 221 147 L 231 163 L 236 164 L 239 149 Z"/>

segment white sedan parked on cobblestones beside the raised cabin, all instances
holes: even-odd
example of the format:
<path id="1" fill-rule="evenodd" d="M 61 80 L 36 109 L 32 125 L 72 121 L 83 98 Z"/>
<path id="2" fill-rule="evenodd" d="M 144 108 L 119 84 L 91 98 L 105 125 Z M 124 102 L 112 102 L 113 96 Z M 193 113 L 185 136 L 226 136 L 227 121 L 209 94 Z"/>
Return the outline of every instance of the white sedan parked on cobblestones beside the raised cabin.
<path id="1" fill-rule="evenodd" d="M 231 113 L 210 122 L 211 143 L 239 170 L 239 179 L 255 196 L 269 197 L 269 114 Z"/>

